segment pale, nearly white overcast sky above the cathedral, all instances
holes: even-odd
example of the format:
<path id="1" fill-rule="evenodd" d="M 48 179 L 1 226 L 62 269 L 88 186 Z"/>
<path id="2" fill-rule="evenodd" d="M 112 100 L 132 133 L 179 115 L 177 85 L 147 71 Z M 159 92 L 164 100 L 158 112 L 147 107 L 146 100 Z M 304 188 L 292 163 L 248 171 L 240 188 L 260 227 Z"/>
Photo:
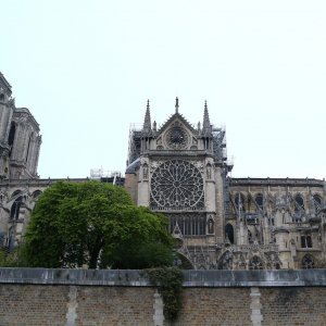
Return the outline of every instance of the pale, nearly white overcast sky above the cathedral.
<path id="1" fill-rule="evenodd" d="M 41 177 L 125 171 L 131 123 L 208 100 L 234 177 L 326 176 L 326 1 L 2 0 L 0 71 Z"/>

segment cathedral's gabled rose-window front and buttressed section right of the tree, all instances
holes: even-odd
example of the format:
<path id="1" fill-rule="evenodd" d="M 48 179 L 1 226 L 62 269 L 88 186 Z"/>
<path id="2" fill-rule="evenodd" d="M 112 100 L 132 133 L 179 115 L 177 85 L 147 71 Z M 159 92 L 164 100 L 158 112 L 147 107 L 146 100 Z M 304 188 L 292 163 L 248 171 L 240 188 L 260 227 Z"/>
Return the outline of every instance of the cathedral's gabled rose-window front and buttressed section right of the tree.
<path id="1" fill-rule="evenodd" d="M 231 178 L 225 130 L 206 103 L 193 127 L 175 113 L 158 128 L 148 102 L 133 129 L 125 185 L 138 205 L 164 213 L 193 268 L 311 268 L 325 265 L 326 183 Z"/>

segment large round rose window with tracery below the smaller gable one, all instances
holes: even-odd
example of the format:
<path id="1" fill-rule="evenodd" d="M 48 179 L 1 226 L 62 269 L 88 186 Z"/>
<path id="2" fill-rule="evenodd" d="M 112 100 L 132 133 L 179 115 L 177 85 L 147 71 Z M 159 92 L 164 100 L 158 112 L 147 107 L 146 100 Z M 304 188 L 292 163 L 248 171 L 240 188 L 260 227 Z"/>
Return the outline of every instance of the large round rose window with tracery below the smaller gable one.
<path id="1" fill-rule="evenodd" d="M 203 208 L 203 179 L 190 162 L 171 160 L 160 164 L 151 176 L 153 209 Z"/>

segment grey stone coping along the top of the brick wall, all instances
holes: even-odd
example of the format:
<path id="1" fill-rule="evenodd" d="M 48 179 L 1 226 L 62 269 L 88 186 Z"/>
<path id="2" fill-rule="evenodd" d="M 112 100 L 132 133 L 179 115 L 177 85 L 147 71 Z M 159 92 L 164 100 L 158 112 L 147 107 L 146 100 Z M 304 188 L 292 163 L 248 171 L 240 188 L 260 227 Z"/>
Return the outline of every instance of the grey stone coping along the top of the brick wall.
<path id="1" fill-rule="evenodd" d="M 184 271 L 184 287 L 324 287 L 326 269 Z M 145 271 L 0 267 L 0 284 L 150 287 Z"/>

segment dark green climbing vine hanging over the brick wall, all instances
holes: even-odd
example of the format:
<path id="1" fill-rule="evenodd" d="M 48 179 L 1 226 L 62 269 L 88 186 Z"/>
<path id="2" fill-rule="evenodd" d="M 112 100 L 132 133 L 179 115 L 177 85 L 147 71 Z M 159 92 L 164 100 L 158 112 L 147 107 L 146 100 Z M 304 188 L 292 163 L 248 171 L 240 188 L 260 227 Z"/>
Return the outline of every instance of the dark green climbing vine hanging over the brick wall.
<path id="1" fill-rule="evenodd" d="M 146 272 L 150 283 L 158 287 L 162 296 L 164 317 L 171 322 L 175 321 L 183 306 L 183 272 L 176 267 L 150 268 Z"/>

